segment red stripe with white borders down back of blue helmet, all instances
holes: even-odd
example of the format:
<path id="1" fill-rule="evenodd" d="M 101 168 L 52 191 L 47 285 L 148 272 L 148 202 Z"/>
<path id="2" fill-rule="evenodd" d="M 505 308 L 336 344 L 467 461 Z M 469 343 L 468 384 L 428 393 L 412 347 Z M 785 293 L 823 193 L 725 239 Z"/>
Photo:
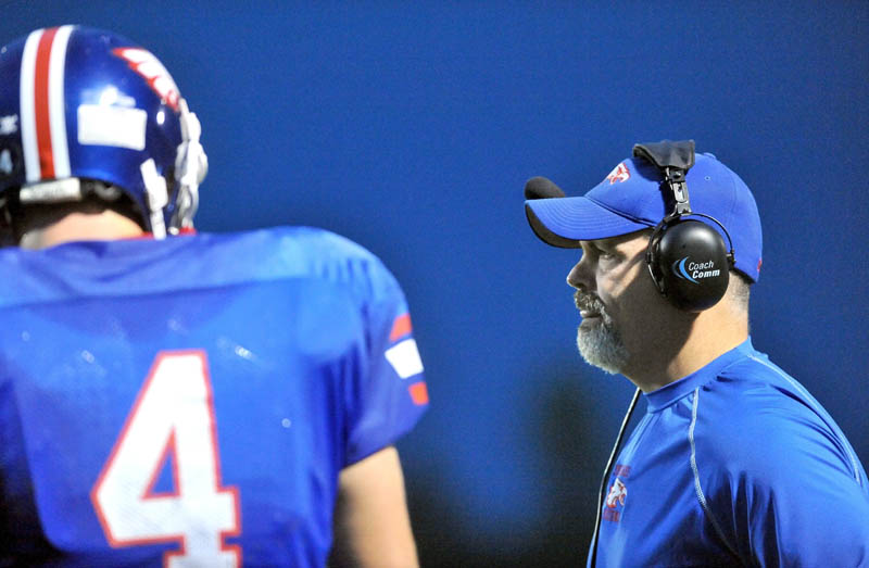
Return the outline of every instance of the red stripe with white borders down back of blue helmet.
<path id="1" fill-rule="evenodd" d="M 63 84 L 72 30 L 73 26 L 38 29 L 24 45 L 20 94 L 28 182 L 70 176 Z"/>

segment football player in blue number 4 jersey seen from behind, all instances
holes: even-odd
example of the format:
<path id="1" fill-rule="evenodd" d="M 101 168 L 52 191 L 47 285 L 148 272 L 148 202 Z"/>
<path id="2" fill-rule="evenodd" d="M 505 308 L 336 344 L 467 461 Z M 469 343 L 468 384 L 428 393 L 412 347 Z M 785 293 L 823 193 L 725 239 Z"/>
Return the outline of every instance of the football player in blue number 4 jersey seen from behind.
<path id="1" fill-rule="evenodd" d="M 200 124 L 149 51 L 0 51 L 0 565 L 414 566 L 407 305 L 324 230 L 193 231 Z M 333 525 L 335 522 L 335 525 Z"/>

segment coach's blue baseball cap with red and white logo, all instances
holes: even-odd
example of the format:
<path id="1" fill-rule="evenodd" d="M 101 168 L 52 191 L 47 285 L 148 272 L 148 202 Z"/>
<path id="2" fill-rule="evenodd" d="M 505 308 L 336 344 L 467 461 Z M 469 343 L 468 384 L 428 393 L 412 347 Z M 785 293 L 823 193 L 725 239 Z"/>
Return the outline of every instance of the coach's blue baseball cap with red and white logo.
<path id="1" fill-rule="evenodd" d="M 608 239 L 654 228 L 672 213 L 672 195 L 662 188 L 660 171 L 643 157 L 629 157 L 582 197 L 525 202 L 528 223 L 554 247 L 579 248 L 579 241 Z M 733 243 L 735 269 L 756 282 L 761 264 L 760 215 L 748 186 L 713 154 L 698 153 L 685 176 L 691 211 L 715 217 Z M 715 223 L 706 223 L 719 233 Z M 727 236 L 721 233 L 725 242 Z"/>

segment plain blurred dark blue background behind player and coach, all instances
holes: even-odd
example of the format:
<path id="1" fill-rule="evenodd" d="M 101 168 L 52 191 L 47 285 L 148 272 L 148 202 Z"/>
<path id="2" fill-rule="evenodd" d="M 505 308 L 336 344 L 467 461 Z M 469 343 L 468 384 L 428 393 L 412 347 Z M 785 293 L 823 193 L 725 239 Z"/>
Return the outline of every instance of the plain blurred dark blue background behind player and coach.
<path id="1" fill-rule="evenodd" d="M 694 138 L 754 190 L 755 345 L 864 463 L 866 2 L 0 2 L 151 49 L 200 116 L 198 226 L 325 227 L 404 286 L 433 407 L 400 449 L 424 564 L 575 565 L 631 386 L 584 365 L 525 180 Z"/>

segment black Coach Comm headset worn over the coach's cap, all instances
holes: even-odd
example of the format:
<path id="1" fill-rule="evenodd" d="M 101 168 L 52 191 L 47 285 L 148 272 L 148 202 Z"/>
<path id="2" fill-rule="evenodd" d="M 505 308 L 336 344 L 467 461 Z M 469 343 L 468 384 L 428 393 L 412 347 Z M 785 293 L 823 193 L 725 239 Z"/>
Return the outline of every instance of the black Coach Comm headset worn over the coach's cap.
<path id="1" fill-rule="evenodd" d="M 694 140 L 640 143 L 633 155 L 654 164 L 664 175 L 665 199 L 672 198 L 672 213 L 652 232 L 645 263 L 655 287 L 672 305 L 685 312 L 702 312 L 727 292 L 733 267 L 733 241 L 715 217 L 691 211 L 685 176 L 694 165 Z M 703 217 L 717 225 L 729 245 Z"/>

